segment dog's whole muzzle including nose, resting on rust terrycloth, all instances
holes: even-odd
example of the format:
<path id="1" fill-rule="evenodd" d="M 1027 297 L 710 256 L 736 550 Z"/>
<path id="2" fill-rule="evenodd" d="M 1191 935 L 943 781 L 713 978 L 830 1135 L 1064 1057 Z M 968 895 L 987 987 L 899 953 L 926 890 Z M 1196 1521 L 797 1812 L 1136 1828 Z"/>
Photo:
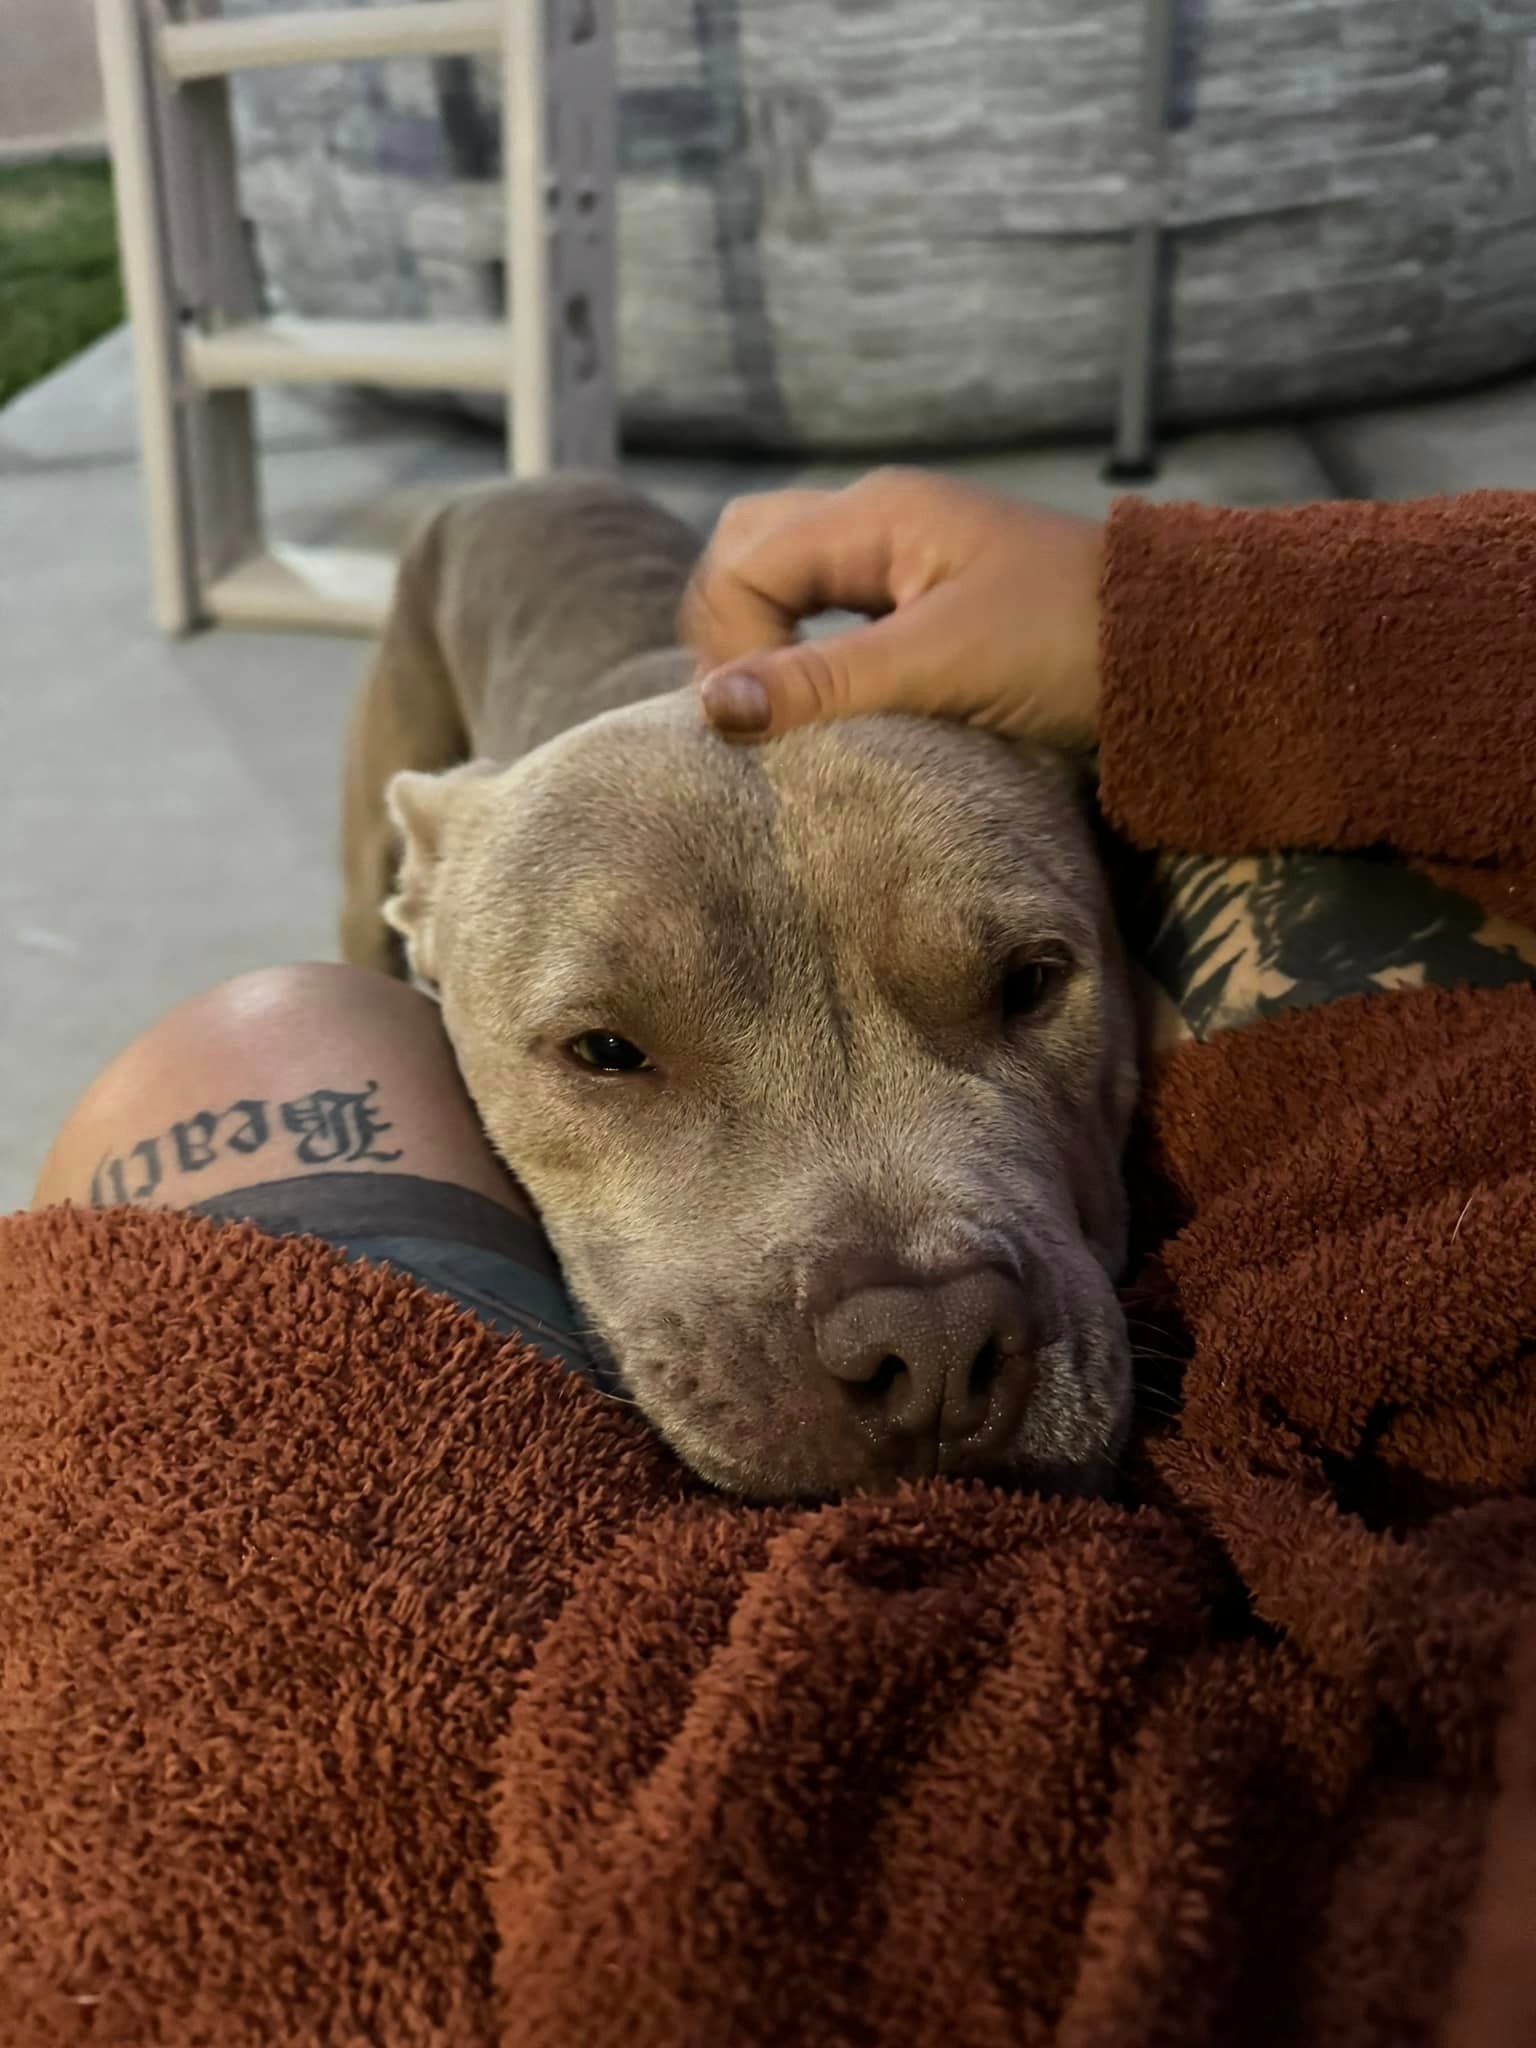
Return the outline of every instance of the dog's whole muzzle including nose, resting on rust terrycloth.
<path id="1" fill-rule="evenodd" d="M 860 1247 L 655 1294 L 602 1247 L 565 1262 L 592 1368 L 702 1481 L 831 1499 L 924 1479 L 1112 1489 L 1130 1343 L 1104 1264 L 1067 1233 L 950 1227 L 922 1264 Z M 575 1268 L 575 1272 L 571 1272 Z M 586 1268 L 586 1270 L 584 1270 Z M 905 1356 L 901 1356 L 905 1354 Z"/>

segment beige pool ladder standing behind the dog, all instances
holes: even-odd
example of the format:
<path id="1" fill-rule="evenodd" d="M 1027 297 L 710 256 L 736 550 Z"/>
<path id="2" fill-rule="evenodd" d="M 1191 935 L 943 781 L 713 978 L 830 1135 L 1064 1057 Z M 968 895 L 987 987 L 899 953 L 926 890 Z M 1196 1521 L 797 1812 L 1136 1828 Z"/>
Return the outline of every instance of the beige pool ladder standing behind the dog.
<path id="1" fill-rule="evenodd" d="M 256 385 L 504 391 L 516 475 L 616 459 L 612 4 L 412 0 L 225 20 L 203 0 L 96 0 L 166 633 L 209 621 L 371 633 L 389 606 L 389 557 L 266 545 Z M 508 322 L 264 317 L 229 76 L 469 51 L 502 53 Z"/>

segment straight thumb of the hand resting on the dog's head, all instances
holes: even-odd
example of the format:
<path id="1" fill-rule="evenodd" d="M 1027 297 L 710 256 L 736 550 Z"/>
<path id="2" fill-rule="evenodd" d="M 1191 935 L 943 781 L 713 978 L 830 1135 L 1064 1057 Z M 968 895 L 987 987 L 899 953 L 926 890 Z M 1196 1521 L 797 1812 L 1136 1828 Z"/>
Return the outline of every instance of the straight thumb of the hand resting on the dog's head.
<path id="1" fill-rule="evenodd" d="M 969 664 L 954 662 L 950 610 L 934 594 L 850 633 L 727 662 L 698 686 L 702 713 L 731 739 L 774 739 L 815 719 L 866 711 L 985 715 L 985 696 L 967 690 Z"/>

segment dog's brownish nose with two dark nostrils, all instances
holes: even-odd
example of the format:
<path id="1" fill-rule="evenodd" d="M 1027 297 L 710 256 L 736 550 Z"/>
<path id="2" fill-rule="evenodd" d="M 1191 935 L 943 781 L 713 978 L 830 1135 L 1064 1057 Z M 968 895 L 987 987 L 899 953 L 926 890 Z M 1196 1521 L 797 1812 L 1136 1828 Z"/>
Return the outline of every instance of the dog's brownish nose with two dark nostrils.
<path id="1" fill-rule="evenodd" d="M 911 1442 L 1001 1448 L 1024 1409 L 1030 1300 L 975 1266 L 928 1284 L 860 1286 L 815 1319 L 821 1364 L 860 1413 Z"/>

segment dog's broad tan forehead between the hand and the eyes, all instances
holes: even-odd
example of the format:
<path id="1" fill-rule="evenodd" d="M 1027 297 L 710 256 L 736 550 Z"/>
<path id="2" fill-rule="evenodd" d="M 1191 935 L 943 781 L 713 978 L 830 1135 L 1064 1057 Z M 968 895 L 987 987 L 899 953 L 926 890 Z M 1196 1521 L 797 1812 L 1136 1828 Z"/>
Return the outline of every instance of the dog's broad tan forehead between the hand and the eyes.
<path id="1" fill-rule="evenodd" d="M 666 973 L 702 944 L 745 973 L 768 928 L 891 950 L 987 915 L 1087 942 L 1098 918 L 1067 772 L 924 719 L 739 748 L 690 700 L 637 707 L 530 756 L 475 858 L 487 944 L 553 940 L 594 971 L 639 950 Z"/>

